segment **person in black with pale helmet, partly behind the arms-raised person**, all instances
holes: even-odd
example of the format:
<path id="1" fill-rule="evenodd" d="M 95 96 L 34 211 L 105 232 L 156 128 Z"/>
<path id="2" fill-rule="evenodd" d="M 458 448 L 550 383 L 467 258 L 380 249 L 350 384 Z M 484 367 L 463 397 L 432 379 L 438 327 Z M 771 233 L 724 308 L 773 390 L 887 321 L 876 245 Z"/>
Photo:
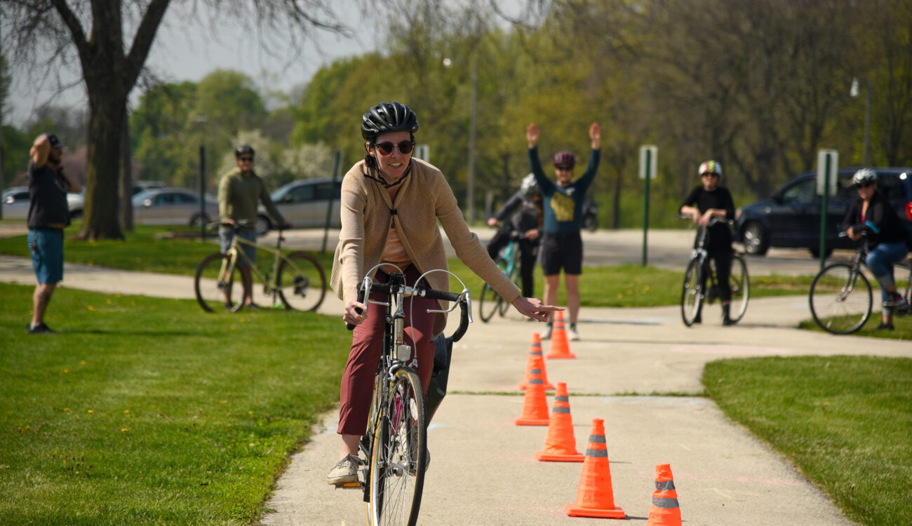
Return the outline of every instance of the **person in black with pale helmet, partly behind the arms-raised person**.
<path id="1" fill-rule="evenodd" d="M 516 209 L 519 211 L 516 211 Z M 520 189 L 513 193 L 501 210 L 488 220 L 489 226 L 498 226 L 497 232 L 488 242 L 488 255 L 497 261 L 503 247 L 510 242 L 513 232 L 520 232 L 523 239 L 519 241 L 520 276 L 523 281 L 523 296 L 534 297 L 535 291 L 535 257 L 538 255 L 538 244 L 542 235 L 544 217 L 542 193 L 535 184 L 535 176 L 529 174 L 523 178 Z"/>

